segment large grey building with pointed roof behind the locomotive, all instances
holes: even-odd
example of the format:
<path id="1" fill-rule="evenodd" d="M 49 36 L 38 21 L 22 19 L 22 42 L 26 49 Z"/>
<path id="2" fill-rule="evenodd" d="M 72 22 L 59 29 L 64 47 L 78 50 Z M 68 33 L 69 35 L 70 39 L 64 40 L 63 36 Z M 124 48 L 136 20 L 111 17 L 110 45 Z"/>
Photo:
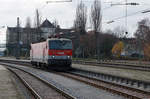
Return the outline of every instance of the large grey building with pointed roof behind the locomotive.
<path id="1" fill-rule="evenodd" d="M 18 35 L 19 33 L 19 35 Z M 61 29 L 59 26 L 55 27 L 47 19 L 37 28 L 17 28 L 17 27 L 8 27 L 6 29 L 6 47 L 8 49 L 9 55 L 16 55 L 16 48 L 18 46 L 18 37 L 21 53 L 29 53 L 30 44 L 39 42 L 41 38 L 47 39 L 49 36 L 54 34 L 60 34 L 65 38 L 74 38 L 74 33 L 72 29 Z"/>

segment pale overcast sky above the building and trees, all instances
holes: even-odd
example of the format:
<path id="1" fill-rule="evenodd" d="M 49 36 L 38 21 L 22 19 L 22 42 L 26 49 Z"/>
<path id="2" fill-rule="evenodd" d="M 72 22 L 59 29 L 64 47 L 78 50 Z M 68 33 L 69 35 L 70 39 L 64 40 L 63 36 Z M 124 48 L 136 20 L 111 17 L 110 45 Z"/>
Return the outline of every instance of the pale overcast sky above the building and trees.
<path id="1" fill-rule="evenodd" d="M 47 0 L 0 0 L 0 25 L 3 26 L 16 26 L 16 19 L 20 17 L 21 25 L 25 25 L 26 18 L 29 16 L 34 23 L 35 9 L 38 8 L 42 15 L 42 20 L 46 18 L 51 22 L 54 19 L 58 20 L 60 27 L 69 28 L 73 25 L 73 20 L 75 18 L 76 6 L 80 0 L 72 0 L 71 3 L 49 3 L 46 4 Z M 83 2 L 88 7 L 88 15 L 90 11 L 90 6 L 93 0 L 83 0 Z M 125 27 L 125 18 L 120 20 L 114 20 L 115 22 L 107 24 L 106 22 L 116 19 L 118 17 L 125 15 L 125 6 L 112 6 L 110 7 L 110 2 L 113 3 L 121 2 L 124 3 L 125 0 L 101 0 L 102 11 L 103 11 L 103 30 L 113 29 L 117 26 Z M 139 6 L 128 6 L 128 14 L 132 14 L 144 9 L 150 9 L 150 0 L 128 0 L 128 2 L 139 3 Z M 110 8 L 109 8 L 110 7 Z M 128 17 L 127 29 L 130 35 L 133 34 L 137 27 L 137 22 L 143 18 L 150 18 L 150 13 L 138 13 L 133 16 Z M 88 22 L 89 23 L 89 22 Z M 88 24 L 87 27 L 90 27 Z"/>

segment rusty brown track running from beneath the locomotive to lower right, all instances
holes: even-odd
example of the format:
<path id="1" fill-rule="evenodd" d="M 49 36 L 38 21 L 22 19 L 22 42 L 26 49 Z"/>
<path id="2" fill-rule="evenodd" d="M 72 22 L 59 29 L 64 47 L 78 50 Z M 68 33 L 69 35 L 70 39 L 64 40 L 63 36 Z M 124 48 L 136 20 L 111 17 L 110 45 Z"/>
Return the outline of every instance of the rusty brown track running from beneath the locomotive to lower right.
<path id="1" fill-rule="evenodd" d="M 81 81 L 85 84 L 89 84 L 91 86 L 109 91 L 111 93 L 124 96 L 125 98 L 129 98 L 129 99 L 149 99 L 150 98 L 150 92 L 123 86 L 123 85 L 118 85 L 118 84 L 111 83 L 111 82 L 106 82 L 103 80 L 98 80 L 98 79 L 87 77 L 87 76 L 83 76 L 82 74 L 79 74 L 79 73 L 73 73 L 73 72 L 66 72 L 66 73 L 54 72 L 54 73 L 77 80 L 77 81 Z"/>

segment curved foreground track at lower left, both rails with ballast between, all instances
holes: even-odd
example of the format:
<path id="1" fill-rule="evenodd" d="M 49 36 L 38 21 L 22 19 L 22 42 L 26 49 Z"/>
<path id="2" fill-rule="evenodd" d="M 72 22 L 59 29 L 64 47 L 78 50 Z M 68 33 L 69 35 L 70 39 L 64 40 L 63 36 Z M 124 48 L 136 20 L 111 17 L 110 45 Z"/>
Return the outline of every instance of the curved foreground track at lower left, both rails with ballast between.
<path id="1" fill-rule="evenodd" d="M 42 77 L 17 67 L 7 65 L 7 68 L 28 88 L 34 96 L 34 99 L 76 99 L 69 93 L 66 93 L 57 88 L 57 86 L 47 82 Z"/>

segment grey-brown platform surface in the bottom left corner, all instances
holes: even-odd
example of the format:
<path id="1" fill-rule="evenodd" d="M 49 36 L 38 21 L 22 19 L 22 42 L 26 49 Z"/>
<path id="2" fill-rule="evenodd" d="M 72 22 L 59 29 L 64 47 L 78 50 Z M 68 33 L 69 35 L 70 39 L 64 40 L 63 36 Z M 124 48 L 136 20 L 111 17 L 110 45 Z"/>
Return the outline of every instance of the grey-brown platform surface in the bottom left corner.
<path id="1" fill-rule="evenodd" d="M 21 99 L 11 72 L 2 65 L 0 65 L 0 99 Z"/>

